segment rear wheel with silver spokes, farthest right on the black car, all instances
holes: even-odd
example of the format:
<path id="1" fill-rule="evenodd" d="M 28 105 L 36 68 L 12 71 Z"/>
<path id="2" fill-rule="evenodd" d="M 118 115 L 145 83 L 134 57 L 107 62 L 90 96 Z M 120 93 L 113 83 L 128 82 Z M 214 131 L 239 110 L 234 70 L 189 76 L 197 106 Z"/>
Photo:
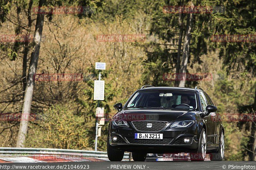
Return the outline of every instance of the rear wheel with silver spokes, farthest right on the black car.
<path id="1" fill-rule="evenodd" d="M 210 154 L 210 159 L 213 161 L 222 161 L 223 159 L 225 159 L 224 150 L 225 150 L 224 132 L 221 131 L 218 150 L 217 152 L 213 152 Z"/>

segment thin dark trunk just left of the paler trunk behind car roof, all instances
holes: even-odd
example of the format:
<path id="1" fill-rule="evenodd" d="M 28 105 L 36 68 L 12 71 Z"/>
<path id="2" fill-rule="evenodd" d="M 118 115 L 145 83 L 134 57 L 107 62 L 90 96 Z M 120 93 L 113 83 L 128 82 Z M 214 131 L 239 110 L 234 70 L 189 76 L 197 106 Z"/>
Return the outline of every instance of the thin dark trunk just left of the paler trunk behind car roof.
<path id="1" fill-rule="evenodd" d="M 179 43 L 178 43 L 178 55 L 177 55 L 177 63 L 176 63 L 176 75 L 180 73 L 180 52 L 181 52 L 181 44 L 182 44 L 182 35 L 183 35 L 183 27 L 182 22 L 183 18 L 181 20 L 182 14 L 179 15 L 179 26 L 180 26 L 180 33 L 179 33 Z M 180 84 L 180 81 L 175 81 L 175 87 L 178 87 Z"/>

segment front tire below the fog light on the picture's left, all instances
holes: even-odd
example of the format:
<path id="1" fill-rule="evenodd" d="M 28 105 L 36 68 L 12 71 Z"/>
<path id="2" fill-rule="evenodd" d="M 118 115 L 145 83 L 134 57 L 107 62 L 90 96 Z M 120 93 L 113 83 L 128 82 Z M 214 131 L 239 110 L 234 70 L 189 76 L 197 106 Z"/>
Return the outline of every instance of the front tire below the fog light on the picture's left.
<path id="1" fill-rule="evenodd" d="M 109 144 L 109 137 L 108 137 L 108 142 L 107 142 L 107 153 L 108 153 L 108 159 L 110 161 L 121 161 L 124 158 L 124 152 L 119 151 L 113 148 Z"/>

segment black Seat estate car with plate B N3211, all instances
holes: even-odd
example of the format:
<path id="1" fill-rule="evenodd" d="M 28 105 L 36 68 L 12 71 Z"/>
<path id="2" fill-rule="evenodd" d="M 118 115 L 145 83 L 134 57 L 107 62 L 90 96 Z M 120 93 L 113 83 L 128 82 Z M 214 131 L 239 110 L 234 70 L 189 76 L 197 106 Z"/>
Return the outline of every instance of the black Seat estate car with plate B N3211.
<path id="1" fill-rule="evenodd" d="M 189 153 L 191 161 L 224 159 L 224 128 L 217 107 L 204 90 L 144 85 L 122 105 L 108 127 L 108 159 L 134 161 L 147 153 Z"/>

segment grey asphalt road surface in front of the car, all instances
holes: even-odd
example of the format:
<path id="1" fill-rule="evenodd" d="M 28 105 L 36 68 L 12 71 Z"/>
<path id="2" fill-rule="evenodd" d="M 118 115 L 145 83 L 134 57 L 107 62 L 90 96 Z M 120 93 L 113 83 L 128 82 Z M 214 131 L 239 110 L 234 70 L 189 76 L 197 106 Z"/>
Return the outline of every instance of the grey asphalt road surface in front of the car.
<path id="1" fill-rule="evenodd" d="M 5 166 L 5 167 L 4 167 Z M 8 166 L 8 167 L 7 167 Z M 23 166 L 23 167 L 22 167 Z M 44 167 L 43 167 L 44 166 Z M 46 168 L 47 167 L 47 168 Z M 150 162 L 53 162 L 53 163 L 5 163 L 1 170 L 9 169 L 256 169 L 255 161 L 150 161 Z"/>

